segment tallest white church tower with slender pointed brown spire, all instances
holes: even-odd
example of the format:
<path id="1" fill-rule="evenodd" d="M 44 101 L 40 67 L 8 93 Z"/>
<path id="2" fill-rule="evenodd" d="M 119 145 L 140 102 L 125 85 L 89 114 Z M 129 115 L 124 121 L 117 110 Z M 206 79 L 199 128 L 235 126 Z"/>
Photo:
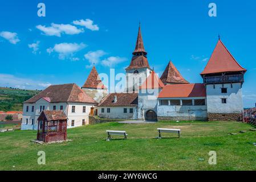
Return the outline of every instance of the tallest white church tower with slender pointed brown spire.
<path id="1" fill-rule="evenodd" d="M 127 92 L 139 92 L 139 86 L 146 80 L 151 73 L 151 68 L 148 64 L 147 52 L 145 51 L 141 30 L 137 36 L 135 50 L 132 53 L 132 61 L 126 70 Z"/>

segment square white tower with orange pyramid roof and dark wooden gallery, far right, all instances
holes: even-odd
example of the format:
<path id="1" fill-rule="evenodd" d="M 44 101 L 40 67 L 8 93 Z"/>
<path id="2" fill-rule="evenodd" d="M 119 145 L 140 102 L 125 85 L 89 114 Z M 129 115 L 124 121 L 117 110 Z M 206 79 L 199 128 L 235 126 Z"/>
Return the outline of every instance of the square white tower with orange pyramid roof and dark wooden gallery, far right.
<path id="1" fill-rule="evenodd" d="M 206 86 L 210 121 L 238 120 L 243 111 L 242 85 L 246 69 L 241 67 L 221 40 L 201 73 Z"/>

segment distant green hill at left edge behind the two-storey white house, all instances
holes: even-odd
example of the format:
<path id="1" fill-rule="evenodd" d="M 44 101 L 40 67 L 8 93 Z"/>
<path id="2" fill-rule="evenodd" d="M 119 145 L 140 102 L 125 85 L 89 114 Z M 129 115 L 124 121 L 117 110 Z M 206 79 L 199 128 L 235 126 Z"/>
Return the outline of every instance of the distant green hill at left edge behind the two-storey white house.
<path id="1" fill-rule="evenodd" d="M 0 111 L 22 111 L 22 102 L 38 94 L 40 90 L 23 90 L 0 87 Z"/>

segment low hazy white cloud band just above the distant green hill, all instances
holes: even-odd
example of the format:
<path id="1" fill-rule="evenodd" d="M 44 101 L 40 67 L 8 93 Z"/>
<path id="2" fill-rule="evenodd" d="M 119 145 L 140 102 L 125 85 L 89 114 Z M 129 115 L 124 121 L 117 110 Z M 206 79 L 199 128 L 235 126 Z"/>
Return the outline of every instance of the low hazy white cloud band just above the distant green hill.
<path id="1" fill-rule="evenodd" d="M 16 77 L 14 75 L 0 73 L 0 86 L 7 86 L 19 89 L 45 89 L 50 82 L 31 80 L 29 78 Z"/>

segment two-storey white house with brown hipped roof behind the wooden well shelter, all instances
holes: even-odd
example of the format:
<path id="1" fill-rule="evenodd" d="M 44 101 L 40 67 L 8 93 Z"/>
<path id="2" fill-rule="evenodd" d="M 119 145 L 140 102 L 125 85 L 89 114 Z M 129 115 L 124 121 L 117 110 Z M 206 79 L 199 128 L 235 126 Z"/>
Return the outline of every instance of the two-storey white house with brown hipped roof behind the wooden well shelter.
<path id="1" fill-rule="evenodd" d="M 76 84 L 51 85 L 23 102 L 22 130 L 37 130 L 38 117 L 43 110 L 63 110 L 67 127 L 87 125 L 91 110 L 97 102 Z"/>

